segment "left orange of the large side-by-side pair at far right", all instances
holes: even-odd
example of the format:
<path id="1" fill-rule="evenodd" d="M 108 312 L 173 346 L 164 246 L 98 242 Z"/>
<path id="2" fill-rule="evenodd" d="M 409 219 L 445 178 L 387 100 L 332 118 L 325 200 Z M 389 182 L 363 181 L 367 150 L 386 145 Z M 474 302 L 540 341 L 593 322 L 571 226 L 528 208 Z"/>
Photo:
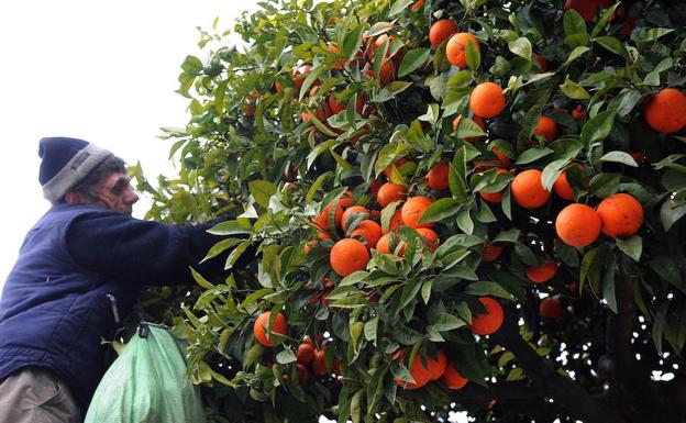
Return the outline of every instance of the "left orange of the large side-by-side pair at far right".
<path id="1" fill-rule="evenodd" d="M 555 219 L 555 231 L 565 244 L 585 247 L 600 235 L 600 215 L 586 204 L 574 203 L 562 209 Z"/>

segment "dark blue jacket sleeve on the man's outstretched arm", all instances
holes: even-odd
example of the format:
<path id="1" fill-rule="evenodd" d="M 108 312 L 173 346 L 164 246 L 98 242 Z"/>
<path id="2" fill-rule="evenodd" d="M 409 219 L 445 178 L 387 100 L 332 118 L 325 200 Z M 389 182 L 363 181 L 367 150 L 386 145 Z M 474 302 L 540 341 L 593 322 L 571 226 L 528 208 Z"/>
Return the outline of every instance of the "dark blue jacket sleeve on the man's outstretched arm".
<path id="1" fill-rule="evenodd" d="M 167 225 L 117 212 L 89 213 L 75 220 L 67 232 L 71 257 L 86 269 L 112 280 L 144 285 L 193 283 L 189 266 L 204 277 L 223 271 L 226 255 L 198 263 L 222 236 L 210 225 Z M 234 267 L 254 259 L 245 251 Z"/>

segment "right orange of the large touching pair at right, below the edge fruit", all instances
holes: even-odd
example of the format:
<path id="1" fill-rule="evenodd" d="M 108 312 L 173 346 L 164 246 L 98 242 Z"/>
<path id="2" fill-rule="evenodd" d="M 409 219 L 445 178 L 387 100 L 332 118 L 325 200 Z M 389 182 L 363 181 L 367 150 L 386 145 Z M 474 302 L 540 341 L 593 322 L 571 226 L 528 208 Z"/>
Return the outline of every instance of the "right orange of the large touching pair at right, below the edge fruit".
<path id="1" fill-rule="evenodd" d="M 628 193 L 616 193 L 600 201 L 598 214 L 607 236 L 631 236 L 643 224 L 643 207 Z"/>

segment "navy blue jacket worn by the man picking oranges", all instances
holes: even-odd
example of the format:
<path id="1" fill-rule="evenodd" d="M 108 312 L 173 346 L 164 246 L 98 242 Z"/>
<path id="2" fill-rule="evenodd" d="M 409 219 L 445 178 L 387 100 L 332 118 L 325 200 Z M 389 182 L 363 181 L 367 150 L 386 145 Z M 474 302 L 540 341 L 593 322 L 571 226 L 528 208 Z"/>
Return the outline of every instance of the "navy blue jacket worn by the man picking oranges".
<path id="1" fill-rule="evenodd" d="M 85 411 L 104 372 L 101 336 L 143 285 L 191 283 L 188 267 L 221 238 L 85 204 L 53 207 L 29 231 L 0 298 L 0 380 L 51 369 Z"/>

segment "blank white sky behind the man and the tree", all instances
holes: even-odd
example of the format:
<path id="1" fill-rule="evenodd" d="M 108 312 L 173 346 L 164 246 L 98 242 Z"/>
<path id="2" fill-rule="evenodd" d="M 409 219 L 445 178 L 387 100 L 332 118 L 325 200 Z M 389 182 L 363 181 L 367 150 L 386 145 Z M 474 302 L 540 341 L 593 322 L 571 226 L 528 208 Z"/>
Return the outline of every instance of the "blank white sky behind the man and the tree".
<path id="1" fill-rule="evenodd" d="M 74 136 L 173 175 L 161 126 L 184 126 L 180 64 L 199 55 L 197 26 L 232 29 L 256 0 L 22 0 L 0 3 L 0 287 L 26 231 L 48 209 L 38 140 Z M 204 62 L 203 56 L 200 59 Z M 148 204 L 134 207 L 142 216 Z M 103 246 L 104 248 L 106 246 Z"/>

